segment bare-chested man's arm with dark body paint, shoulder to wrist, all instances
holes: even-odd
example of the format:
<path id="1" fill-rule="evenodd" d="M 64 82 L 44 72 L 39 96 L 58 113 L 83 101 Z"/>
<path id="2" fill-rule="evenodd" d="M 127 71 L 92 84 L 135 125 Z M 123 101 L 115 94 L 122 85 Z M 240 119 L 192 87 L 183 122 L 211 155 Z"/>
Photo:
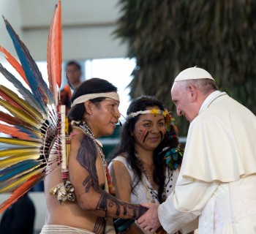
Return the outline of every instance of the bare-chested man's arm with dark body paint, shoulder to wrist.
<path id="1" fill-rule="evenodd" d="M 102 178 L 105 172 L 90 137 L 85 136 L 79 143 L 72 143 L 78 151 L 70 159 L 69 175 L 81 208 L 97 216 L 116 219 L 138 219 L 146 212 L 147 209 L 141 205 L 124 203 L 100 188 L 99 176 Z"/>

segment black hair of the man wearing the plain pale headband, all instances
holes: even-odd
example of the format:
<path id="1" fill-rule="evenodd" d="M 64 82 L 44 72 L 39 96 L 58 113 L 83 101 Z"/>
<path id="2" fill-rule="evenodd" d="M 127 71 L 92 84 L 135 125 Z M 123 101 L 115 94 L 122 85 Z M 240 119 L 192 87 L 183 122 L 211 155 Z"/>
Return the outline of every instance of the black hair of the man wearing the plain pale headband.
<path id="1" fill-rule="evenodd" d="M 75 93 L 72 95 L 71 101 L 74 102 L 75 99 L 85 94 L 109 93 L 113 91 L 116 92 L 117 88 L 116 86 L 113 86 L 112 83 L 109 83 L 108 80 L 103 80 L 100 78 L 91 78 L 89 80 L 84 81 L 80 84 L 80 86 L 78 86 Z M 97 104 L 98 102 L 101 102 L 103 99 L 105 99 L 105 97 L 97 97 L 91 99 L 90 101 L 94 104 Z M 69 110 L 67 116 L 70 120 L 82 121 L 85 112 L 86 108 L 84 106 L 84 103 L 79 103 Z"/>

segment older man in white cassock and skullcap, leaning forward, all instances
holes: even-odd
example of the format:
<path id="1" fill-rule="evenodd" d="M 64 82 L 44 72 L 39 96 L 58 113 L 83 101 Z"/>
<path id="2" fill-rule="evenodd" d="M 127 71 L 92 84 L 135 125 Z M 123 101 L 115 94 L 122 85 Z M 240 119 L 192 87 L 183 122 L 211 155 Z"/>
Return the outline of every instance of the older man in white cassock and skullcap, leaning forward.
<path id="1" fill-rule="evenodd" d="M 138 219 L 167 233 L 256 233 L 256 116 L 217 90 L 204 69 L 181 72 L 171 89 L 178 116 L 190 122 L 173 193 Z"/>

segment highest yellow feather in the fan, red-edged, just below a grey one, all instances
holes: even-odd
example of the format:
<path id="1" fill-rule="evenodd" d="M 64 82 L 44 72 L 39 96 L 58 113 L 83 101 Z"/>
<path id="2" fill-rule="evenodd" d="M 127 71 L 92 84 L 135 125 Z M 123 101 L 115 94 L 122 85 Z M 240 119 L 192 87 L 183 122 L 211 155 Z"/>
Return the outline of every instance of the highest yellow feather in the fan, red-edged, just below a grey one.
<path id="1" fill-rule="evenodd" d="M 3 91 L 5 94 L 7 94 L 9 97 L 11 97 L 15 102 L 18 103 L 18 105 L 20 105 L 25 110 L 27 110 L 34 118 L 37 118 L 37 121 L 44 121 L 42 114 L 39 113 L 39 111 L 37 111 L 34 107 L 29 105 L 28 102 L 18 97 L 18 95 L 15 94 L 15 92 L 1 85 L 0 85 L 0 90 Z"/>

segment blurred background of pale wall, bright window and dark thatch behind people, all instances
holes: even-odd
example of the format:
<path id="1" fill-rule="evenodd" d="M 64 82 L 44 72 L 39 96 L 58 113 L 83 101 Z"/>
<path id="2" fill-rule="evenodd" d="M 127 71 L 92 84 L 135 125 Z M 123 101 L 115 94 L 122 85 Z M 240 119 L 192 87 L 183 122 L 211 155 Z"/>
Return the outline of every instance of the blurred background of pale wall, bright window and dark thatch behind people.
<path id="1" fill-rule="evenodd" d="M 0 0 L 0 14 L 12 24 L 48 80 L 48 29 L 57 1 Z M 170 87 L 181 70 L 202 67 L 222 91 L 256 113 L 255 0 L 62 0 L 63 71 L 78 61 L 82 79 L 104 78 L 118 87 L 120 111 L 132 98 L 157 96 L 176 112 Z M 4 20 L 0 45 L 16 57 Z M 13 72 L 0 55 L 0 62 Z M 62 85 L 67 80 L 62 78 Z M 0 83 L 7 83 L 0 75 Z M 12 84 L 9 84 L 12 86 Z M 124 121 L 124 118 L 121 118 Z M 176 118 L 181 143 L 188 123 Z M 106 156 L 118 143 L 118 129 L 102 143 Z M 40 188 L 38 188 L 40 190 Z M 7 195 L 0 195 L 0 202 Z M 35 232 L 45 215 L 43 192 L 29 192 L 36 205 Z M 1 215 L 1 214 L 0 214 Z"/>

